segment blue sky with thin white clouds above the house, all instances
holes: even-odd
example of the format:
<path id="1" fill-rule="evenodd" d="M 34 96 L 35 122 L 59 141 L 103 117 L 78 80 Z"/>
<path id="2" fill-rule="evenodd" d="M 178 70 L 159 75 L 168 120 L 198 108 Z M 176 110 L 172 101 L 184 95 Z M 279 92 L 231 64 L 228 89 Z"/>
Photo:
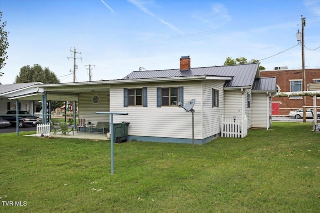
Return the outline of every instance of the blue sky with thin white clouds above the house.
<path id="1" fill-rule="evenodd" d="M 320 0 L 0 0 L 0 11 L 9 31 L 2 84 L 33 64 L 72 82 L 74 47 L 77 82 L 89 80 L 85 65 L 95 65 L 93 81 L 120 79 L 179 68 L 185 55 L 191 67 L 245 57 L 267 70 L 301 68 L 301 15 L 305 66 L 320 67 Z"/>

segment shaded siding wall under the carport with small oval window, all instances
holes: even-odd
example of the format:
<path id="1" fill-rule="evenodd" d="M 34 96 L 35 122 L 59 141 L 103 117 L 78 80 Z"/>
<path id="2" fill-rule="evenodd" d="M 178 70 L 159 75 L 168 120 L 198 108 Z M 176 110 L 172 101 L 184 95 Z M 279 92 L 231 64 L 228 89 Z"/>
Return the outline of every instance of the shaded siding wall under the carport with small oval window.
<path id="1" fill-rule="evenodd" d="M 97 115 L 96 112 L 109 112 L 109 92 L 83 92 L 79 94 L 79 118 L 84 118 L 85 123 L 96 124 L 98 121 L 109 122 L 109 115 Z M 92 96 L 98 95 L 99 102 L 92 103 Z M 123 98 L 123 95 L 122 95 Z M 123 105 L 123 100 L 122 100 Z"/>

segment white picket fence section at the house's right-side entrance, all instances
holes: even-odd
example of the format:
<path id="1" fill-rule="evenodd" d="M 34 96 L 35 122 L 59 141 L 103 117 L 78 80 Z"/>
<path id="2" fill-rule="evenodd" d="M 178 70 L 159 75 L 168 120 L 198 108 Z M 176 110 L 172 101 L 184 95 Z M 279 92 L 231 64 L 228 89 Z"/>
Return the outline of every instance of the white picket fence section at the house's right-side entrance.
<path id="1" fill-rule="evenodd" d="M 248 119 L 221 118 L 221 137 L 244 138 L 248 134 Z"/>

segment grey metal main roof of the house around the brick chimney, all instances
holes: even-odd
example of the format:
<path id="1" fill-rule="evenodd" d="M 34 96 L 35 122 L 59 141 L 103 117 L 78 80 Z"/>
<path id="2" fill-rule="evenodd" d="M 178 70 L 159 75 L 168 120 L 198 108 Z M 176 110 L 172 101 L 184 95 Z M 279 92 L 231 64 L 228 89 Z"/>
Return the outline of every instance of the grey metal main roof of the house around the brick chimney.
<path id="1" fill-rule="evenodd" d="M 190 68 L 189 70 L 166 69 L 150 71 L 133 71 L 125 79 L 151 79 L 186 76 L 220 76 L 232 77 L 225 82 L 224 87 L 252 86 L 254 78 L 259 78 L 258 63 L 237 64 L 228 66 L 211 66 Z"/>

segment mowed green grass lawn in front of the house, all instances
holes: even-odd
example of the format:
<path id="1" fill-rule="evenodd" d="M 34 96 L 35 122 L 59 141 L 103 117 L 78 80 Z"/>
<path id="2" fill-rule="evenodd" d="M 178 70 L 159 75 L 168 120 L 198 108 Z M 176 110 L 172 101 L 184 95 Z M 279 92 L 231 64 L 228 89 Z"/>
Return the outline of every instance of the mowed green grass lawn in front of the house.
<path id="1" fill-rule="evenodd" d="M 311 129 L 273 122 L 194 148 L 114 144 L 113 175 L 107 142 L 1 134 L 0 212 L 318 213 L 320 133 Z"/>

